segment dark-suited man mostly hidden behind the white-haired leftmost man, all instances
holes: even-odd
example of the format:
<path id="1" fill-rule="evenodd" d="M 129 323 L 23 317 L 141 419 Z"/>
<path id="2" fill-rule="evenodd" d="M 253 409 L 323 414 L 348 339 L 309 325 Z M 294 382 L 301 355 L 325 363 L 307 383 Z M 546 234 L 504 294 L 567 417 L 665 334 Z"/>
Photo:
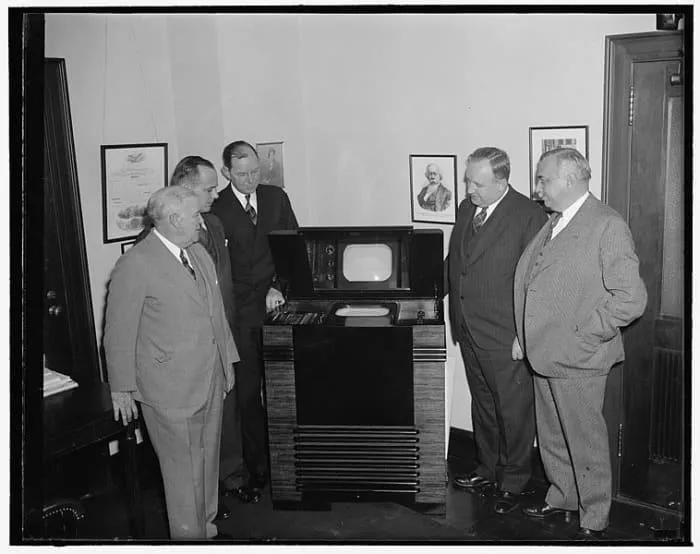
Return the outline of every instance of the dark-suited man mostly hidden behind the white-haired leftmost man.
<path id="1" fill-rule="evenodd" d="M 170 186 L 183 186 L 191 190 L 199 200 L 202 216 L 202 228 L 198 242 L 204 246 L 216 267 L 221 297 L 224 301 L 226 320 L 234 332 L 234 294 L 231 278 L 231 261 L 226 248 L 224 227 L 215 215 L 210 213 L 211 205 L 218 198 L 217 171 L 209 160 L 201 156 L 186 156 L 178 162 L 170 177 Z M 136 238 L 140 242 L 150 233 L 151 225 L 141 231 Z M 235 336 L 234 336 L 235 340 Z M 260 492 L 248 486 L 248 471 L 243 461 L 243 441 L 241 438 L 241 422 L 238 414 L 235 389 L 226 395 L 224 400 L 224 415 L 221 436 L 221 463 L 219 478 L 222 493 L 234 496 L 245 503 L 255 503 L 260 500 Z M 219 508 L 219 519 L 227 519 L 230 511 L 222 502 Z"/>

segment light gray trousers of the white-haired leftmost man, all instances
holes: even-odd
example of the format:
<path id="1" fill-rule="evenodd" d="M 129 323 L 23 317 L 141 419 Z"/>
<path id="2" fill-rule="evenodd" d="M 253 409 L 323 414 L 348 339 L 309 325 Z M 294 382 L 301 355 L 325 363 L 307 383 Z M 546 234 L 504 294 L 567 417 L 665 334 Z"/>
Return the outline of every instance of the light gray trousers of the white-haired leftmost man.
<path id="1" fill-rule="evenodd" d="M 217 364 L 207 402 L 196 409 L 141 404 L 158 456 L 170 538 L 209 539 L 219 505 L 219 446 L 224 375 Z"/>

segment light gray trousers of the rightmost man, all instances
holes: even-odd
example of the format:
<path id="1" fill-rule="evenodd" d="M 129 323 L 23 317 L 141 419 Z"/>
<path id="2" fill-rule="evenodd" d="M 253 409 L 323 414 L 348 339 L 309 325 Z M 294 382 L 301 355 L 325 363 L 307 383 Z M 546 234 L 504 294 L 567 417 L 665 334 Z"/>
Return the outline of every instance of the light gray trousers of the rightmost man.
<path id="1" fill-rule="evenodd" d="M 612 470 L 603 417 L 607 375 L 535 376 L 537 442 L 551 483 L 546 502 L 579 512 L 581 527 L 608 525 Z"/>

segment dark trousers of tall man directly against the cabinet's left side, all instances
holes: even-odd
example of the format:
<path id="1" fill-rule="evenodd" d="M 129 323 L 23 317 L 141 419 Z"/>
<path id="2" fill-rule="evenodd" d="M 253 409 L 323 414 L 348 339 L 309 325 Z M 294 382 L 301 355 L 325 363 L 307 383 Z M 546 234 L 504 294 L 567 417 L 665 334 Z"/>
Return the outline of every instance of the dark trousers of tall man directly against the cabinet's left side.
<path id="1" fill-rule="evenodd" d="M 262 329 L 237 327 L 234 333 L 241 360 L 234 364 L 236 400 L 241 416 L 243 459 L 250 473 L 267 475 L 267 430 L 262 405 Z"/>

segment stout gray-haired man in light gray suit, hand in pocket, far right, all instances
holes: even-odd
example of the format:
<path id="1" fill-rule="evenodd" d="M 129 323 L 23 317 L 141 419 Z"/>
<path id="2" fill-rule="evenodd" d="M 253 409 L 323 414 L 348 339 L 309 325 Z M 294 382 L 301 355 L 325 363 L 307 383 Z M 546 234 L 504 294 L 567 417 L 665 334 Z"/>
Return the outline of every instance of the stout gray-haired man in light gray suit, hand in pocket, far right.
<path id="1" fill-rule="evenodd" d="M 576 538 L 602 538 L 612 476 L 603 417 L 610 368 L 624 359 L 620 328 L 644 312 L 632 234 L 620 215 L 588 190 L 588 161 L 571 148 L 546 152 L 535 192 L 553 211 L 515 271 L 517 337 L 513 359 L 535 371 L 535 415 L 550 487 L 544 504 L 525 508 L 546 519 L 578 511 Z"/>

